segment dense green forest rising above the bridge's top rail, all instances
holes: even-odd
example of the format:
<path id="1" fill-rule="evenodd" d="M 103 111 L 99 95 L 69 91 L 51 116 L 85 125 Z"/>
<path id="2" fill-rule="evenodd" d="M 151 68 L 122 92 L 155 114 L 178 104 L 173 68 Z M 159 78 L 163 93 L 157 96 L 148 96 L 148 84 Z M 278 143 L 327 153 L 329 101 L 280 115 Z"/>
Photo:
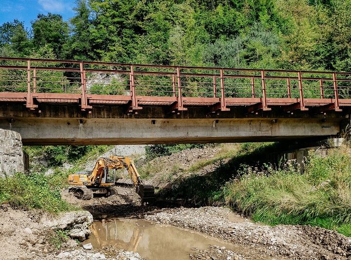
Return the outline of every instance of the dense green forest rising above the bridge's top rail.
<path id="1" fill-rule="evenodd" d="M 351 0 L 77 0 L 0 26 L 0 56 L 351 70 Z"/>

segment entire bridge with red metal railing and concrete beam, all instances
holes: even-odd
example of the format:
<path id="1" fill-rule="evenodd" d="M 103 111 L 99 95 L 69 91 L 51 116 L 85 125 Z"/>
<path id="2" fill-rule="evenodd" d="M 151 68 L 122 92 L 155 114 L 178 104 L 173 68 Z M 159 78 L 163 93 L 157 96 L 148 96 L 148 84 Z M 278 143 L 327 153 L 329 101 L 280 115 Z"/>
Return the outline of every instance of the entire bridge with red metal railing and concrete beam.
<path id="1" fill-rule="evenodd" d="M 24 145 L 325 139 L 350 107 L 351 72 L 0 57 L 0 128 Z"/>

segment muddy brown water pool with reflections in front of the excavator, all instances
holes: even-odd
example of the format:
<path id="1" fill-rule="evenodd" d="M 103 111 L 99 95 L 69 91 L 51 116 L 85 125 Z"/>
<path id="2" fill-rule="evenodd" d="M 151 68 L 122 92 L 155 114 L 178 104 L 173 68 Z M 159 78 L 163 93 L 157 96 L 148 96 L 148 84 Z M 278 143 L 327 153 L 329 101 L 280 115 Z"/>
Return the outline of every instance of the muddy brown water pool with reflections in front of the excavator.
<path id="1" fill-rule="evenodd" d="M 206 249 L 210 245 L 225 246 L 235 252 L 233 244 L 174 226 L 154 225 L 139 219 L 113 219 L 94 221 L 92 234 L 86 243 L 98 249 L 103 245 L 115 245 L 127 251 L 139 253 L 149 260 L 185 260 L 194 253 L 192 248 Z"/>

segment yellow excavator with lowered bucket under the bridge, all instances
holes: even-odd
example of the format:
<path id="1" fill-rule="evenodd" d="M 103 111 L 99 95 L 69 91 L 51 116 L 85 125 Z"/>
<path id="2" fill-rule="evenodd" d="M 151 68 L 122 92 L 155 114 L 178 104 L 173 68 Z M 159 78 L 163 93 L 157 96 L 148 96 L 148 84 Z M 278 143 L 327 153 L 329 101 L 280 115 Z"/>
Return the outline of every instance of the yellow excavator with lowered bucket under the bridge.
<path id="1" fill-rule="evenodd" d="M 155 187 L 144 185 L 133 160 L 128 156 L 101 157 L 97 160 L 93 171 L 78 172 L 68 176 L 68 183 L 74 185 L 68 192 L 83 200 L 90 200 L 93 194 L 111 196 L 117 194 L 116 170 L 127 169 L 136 187 L 137 194 L 141 197 L 141 203 L 151 203 L 155 199 Z M 111 171 L 113 170 L 113 174 Z"/>

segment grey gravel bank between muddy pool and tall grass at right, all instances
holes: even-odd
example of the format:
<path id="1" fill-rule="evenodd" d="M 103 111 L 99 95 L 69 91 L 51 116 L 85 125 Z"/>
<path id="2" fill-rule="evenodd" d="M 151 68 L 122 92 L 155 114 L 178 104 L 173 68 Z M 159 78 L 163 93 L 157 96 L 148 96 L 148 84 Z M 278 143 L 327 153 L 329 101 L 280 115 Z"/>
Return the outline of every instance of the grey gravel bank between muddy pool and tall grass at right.
<path id="1" fill-rule="evenodd" d="M 258 225 L 235 215 L 229 208 L 168 208 L 146 214 L 144 218 L 156 224 L 196 230 L 241 245 L 245 248 L 241 251 L 245 259 L 351 258 L 351 239 L 336 231 L 309 225 Z"/>

